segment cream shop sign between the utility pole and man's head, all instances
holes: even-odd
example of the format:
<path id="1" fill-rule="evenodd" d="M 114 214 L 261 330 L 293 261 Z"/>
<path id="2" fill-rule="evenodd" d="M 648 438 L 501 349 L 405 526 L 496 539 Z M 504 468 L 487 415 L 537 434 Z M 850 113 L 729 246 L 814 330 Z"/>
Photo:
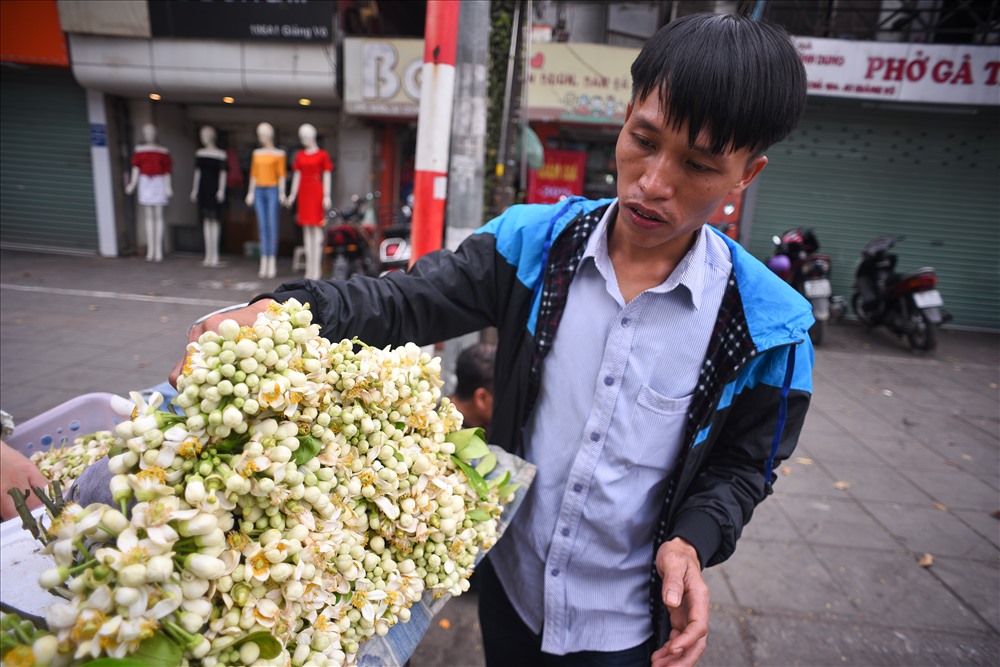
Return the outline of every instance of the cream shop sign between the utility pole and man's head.
<path id="1" fill-rule="evenodd" d="M 639 50 L 580 43 L 533 44 L 528 118 L 621 126 Z"/>

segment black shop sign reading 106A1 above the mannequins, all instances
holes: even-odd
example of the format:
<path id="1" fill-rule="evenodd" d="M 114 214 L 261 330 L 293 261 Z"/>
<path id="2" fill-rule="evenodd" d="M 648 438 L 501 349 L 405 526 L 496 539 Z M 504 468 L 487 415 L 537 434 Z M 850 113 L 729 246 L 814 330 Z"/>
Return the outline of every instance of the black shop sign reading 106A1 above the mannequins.
<path id="1" fill-rule="evenodd" d="M 149 2 L 153 37 L 243 41 L 333 41 L 334 3 L 325 0 Z"/>

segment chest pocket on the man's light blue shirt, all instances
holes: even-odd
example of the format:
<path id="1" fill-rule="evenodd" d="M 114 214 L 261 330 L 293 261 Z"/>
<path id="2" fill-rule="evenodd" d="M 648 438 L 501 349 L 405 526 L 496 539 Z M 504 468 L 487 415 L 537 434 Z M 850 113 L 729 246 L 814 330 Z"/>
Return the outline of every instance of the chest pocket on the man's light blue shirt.
<path id="1" fill-rule="evenodd" d="M 631 411 L 628 437 L 617 452 L 617 463 L 626 470 L 640 466 L 669 471 L 681 449 L 693 396 L 672 398 L 643 385 Z"/>

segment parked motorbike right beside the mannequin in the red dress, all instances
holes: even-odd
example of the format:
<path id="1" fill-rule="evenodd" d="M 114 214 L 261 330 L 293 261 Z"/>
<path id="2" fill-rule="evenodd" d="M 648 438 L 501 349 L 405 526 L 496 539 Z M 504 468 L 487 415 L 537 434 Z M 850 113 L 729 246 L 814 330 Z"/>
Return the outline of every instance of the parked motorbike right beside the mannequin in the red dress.
<path id="1" fill-rule="evenodd" d="M 353 195 L 351 204 L 343 209 L 331 209 L 327 214 L 324 255 L 327 275 L 334 280 L 346 280 L 353 275 L 375 275 L 377 267 L 371 250 L 371 241 L 365 226 L 374 229 L 374 210 L 371 203 L 378 192 L 364 197 Z"/>

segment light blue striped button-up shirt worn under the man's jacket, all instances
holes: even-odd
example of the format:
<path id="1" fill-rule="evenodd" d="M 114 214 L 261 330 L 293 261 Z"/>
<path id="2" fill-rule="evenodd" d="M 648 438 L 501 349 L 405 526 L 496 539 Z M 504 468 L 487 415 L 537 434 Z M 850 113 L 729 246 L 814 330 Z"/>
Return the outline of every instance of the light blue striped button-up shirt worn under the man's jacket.
<path id="1" fill-rule="evenodd" d="M 619 651 L 653 632 L 653 532 L 732 258 L 702 228 L 661 285 L 625 303 L 591 235 L 525 437 L 535 481 L 490 552 L 542 650 Z"/>

